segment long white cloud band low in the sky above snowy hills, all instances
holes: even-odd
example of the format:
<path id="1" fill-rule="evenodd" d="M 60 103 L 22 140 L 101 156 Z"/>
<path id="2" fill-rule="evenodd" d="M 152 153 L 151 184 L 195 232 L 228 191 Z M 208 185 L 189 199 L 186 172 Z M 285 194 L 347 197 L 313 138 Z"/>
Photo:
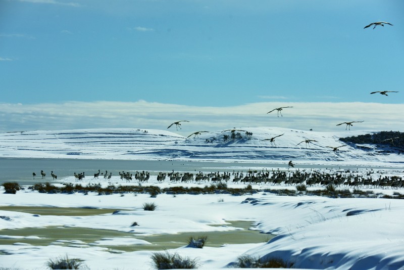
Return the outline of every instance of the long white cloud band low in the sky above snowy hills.
<path id="1" fill-rule="evenodd" d="M 396 112 L 404 104 L 381 103 L 280 103 L 262 102 L 229 107 L 202 107 L 156 102 L 64 102 L 45 104 L 0 104 L 0 132 L 15 130 L 57 130 L 76 128 L 167 129 L 174 121 L 188 120 L 176 131 L 184 136 L 195 130 L 233 127 L 277 126 L 315 131 L 345 131 L 342 122 L 354 123 L 354 130 L 404 130 Z M 284 106 L 283 117 L 274 111 Z"/>

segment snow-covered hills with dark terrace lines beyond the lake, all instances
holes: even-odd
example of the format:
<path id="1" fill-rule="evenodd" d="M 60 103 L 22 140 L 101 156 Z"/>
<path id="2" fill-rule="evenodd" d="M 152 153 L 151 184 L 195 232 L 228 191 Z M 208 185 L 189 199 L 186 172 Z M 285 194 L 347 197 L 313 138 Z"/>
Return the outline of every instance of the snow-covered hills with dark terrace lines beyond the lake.
<path id="1" fill-rule="evenodd" d="M 241 131 L 242 130 L 242 131 Z M 252 136 L 247 137 L 246 131 Z M 404 155 L 374 146 L 344 145 L 339 138 L 375 131 L 318 132 L 280 127 L 204 132 L 185 138 L 157 129 L 75 129 L 0 133 L 0 157 L 200 160 L 402 166 Z M 282 136 L 279 136 L 283 134 Z M 224 141 L 224 135 L 229 136 Z M 279 136 L 279 137 L 276 137 Z M 274 138 L 274 142 L 265 139 Z M 314 140 L 306 144 L 305 140 Z M 300 143 L 300 144 L 299 144 Z"/>

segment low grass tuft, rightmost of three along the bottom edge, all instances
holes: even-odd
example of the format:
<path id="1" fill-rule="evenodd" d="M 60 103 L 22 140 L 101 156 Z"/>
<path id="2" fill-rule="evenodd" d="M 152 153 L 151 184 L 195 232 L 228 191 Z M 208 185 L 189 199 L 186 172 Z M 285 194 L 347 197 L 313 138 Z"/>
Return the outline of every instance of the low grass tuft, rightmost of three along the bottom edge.
<path id="1" fill-rule="evenodd" d="M 291 268 L 293 263 L 286 262 L 281 258 L 262 259 L 243 255 L 237 258 L 233 266 L 234 268 Z"/>

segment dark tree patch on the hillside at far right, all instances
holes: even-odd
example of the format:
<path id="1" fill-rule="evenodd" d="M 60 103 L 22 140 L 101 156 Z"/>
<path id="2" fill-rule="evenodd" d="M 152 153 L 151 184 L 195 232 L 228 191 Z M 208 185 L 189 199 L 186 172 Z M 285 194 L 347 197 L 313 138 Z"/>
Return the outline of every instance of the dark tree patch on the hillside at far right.
<path id="1" fill-rule="evenodd" d="M 387 145 L 404 149 L 404 132 L 399 131 L 380 131 L 374 134 L 340 138 L 339 140 L 344 143 Z"/>

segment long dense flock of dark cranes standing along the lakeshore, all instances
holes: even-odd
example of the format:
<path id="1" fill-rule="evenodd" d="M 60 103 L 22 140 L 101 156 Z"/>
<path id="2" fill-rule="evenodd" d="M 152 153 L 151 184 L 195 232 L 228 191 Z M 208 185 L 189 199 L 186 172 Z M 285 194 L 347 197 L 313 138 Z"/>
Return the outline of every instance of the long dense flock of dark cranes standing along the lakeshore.
<path id="1" fill-rule="evenodd" d="M 294 164 L 290 161 L 289 167 L 293 167 Z M 42 171 L 42 177 L 45 177 L 45 173 Z M 53 173 L 51 173 L 53 174 Z M 150 173 L 148 171 L 136 171 L 133 176 L 129 171 L 127 172 L 119 172 L 120 179 L 122 181 L 126 181 L 126 183 L 148 183 L 150 179 Z M 272 169 L 271 171 L 264 170 L 262 171 L 251 171 L 244 173 L 243 171 L 235 172 L 233 170 L 230 172 L 159 172 L 156 176 L 156 182 L 158 184 L 164 183 L 168 181 L 169 183 L 232 183 L 232 184 L 252 184 L 252 185 L 273 185 L 273 186 L 292 186 L 305 184 L 307 186 L 328 186 L 330 184 L 335 185 L 337 187 L 354 187 L 354 188 L 390 188 L 391 189 L 400 189 L 404 188 L 403 180 L 398 176 L 384 176 L 380 175 L 378 178 L 372 178 L 372 174 L 374 174 L 373 170 L 367 171 L 365 175 L 352 174 L 350 171 L 337 171 L 336 173 L 328 173 L 328 172 L 320 172 L 317 170 L 311 169 L 310 171 L 303 169 L 296 169 L 294 171 L 282 171 Z M 111 179 L 112 172 L 108 173 L 106 170 L 105 173 L 101 173 L 104 179 L 108 182 L 117 181 L 118 177 Z M 76 181 L 82 180 L 85 175 L 84 172 L 80 174 L 74 173 Z M 90 177 L 91 179 L 99 179 L 100 170 L 94 173 L 94 177 Z M 54 177 L 56 179 L 56 175 Z M 154 181 L 153 177 L 153 181 Z"/>

